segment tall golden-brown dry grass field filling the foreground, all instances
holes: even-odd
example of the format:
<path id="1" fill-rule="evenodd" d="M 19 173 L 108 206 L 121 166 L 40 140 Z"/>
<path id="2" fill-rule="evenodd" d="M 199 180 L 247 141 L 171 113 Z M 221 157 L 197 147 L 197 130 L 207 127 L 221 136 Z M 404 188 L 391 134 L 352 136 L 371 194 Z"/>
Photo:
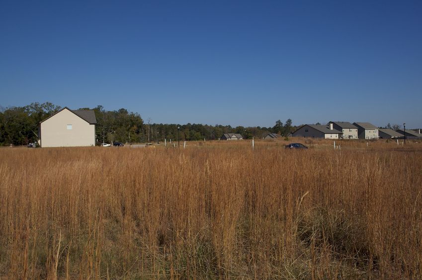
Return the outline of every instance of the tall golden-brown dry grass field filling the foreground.
<path id="1" fill-rule="evenodd" d="M 302 142 L 1 148 L 0 278 L 422 279 L 422 143 Z"/>

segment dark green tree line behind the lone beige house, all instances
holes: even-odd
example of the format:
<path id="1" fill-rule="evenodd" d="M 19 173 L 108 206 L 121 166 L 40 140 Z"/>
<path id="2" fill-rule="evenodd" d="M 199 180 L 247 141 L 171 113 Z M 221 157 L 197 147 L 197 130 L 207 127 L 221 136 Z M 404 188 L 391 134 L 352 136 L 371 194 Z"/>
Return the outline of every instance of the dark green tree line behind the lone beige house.
<path id="1" fill-rule="evenodd" d="M 34 102 L 23 107 L 0 108 L 0 145 L 26 145 L 38 140 L 38 124 L 62 107 L 50 102 Z M 156 124 L 127 109 L 107 111 L 103 106 L 79 108 L 93 110 L 97 124 L 97 143 L 120 141 L 124 143 L 160 142 L 167 140 L 217 140 L 225 133 L 238 133 L 245 139 L 263 138 L 268 133 L 287 136 L 296 129 L 292 120 L 280 120 L 273 127 L 232 127 L 230 125 Z"/>

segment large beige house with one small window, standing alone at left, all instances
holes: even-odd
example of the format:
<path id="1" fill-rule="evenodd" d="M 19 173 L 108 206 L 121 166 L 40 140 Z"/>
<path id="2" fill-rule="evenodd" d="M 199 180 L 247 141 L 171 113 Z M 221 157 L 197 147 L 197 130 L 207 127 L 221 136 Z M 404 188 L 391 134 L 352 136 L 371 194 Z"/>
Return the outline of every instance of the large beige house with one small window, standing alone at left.
<path id="1" fill-rule="evenodd" d="M 75 147 L 95 145 L 93 110 L 71 110 L 64 107 L 38 125 L 41 147 Z"/>

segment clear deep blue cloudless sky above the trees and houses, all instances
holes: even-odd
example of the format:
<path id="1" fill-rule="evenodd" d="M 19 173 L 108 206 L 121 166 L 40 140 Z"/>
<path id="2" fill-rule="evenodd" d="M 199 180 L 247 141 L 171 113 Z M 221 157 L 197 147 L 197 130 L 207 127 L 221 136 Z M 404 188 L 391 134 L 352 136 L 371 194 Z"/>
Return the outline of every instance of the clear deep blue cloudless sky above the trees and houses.
<path id="1" fill-rule="evenodd" d="M 422 127 L 422 1 L 1 1 L 0 105 Z"/>

